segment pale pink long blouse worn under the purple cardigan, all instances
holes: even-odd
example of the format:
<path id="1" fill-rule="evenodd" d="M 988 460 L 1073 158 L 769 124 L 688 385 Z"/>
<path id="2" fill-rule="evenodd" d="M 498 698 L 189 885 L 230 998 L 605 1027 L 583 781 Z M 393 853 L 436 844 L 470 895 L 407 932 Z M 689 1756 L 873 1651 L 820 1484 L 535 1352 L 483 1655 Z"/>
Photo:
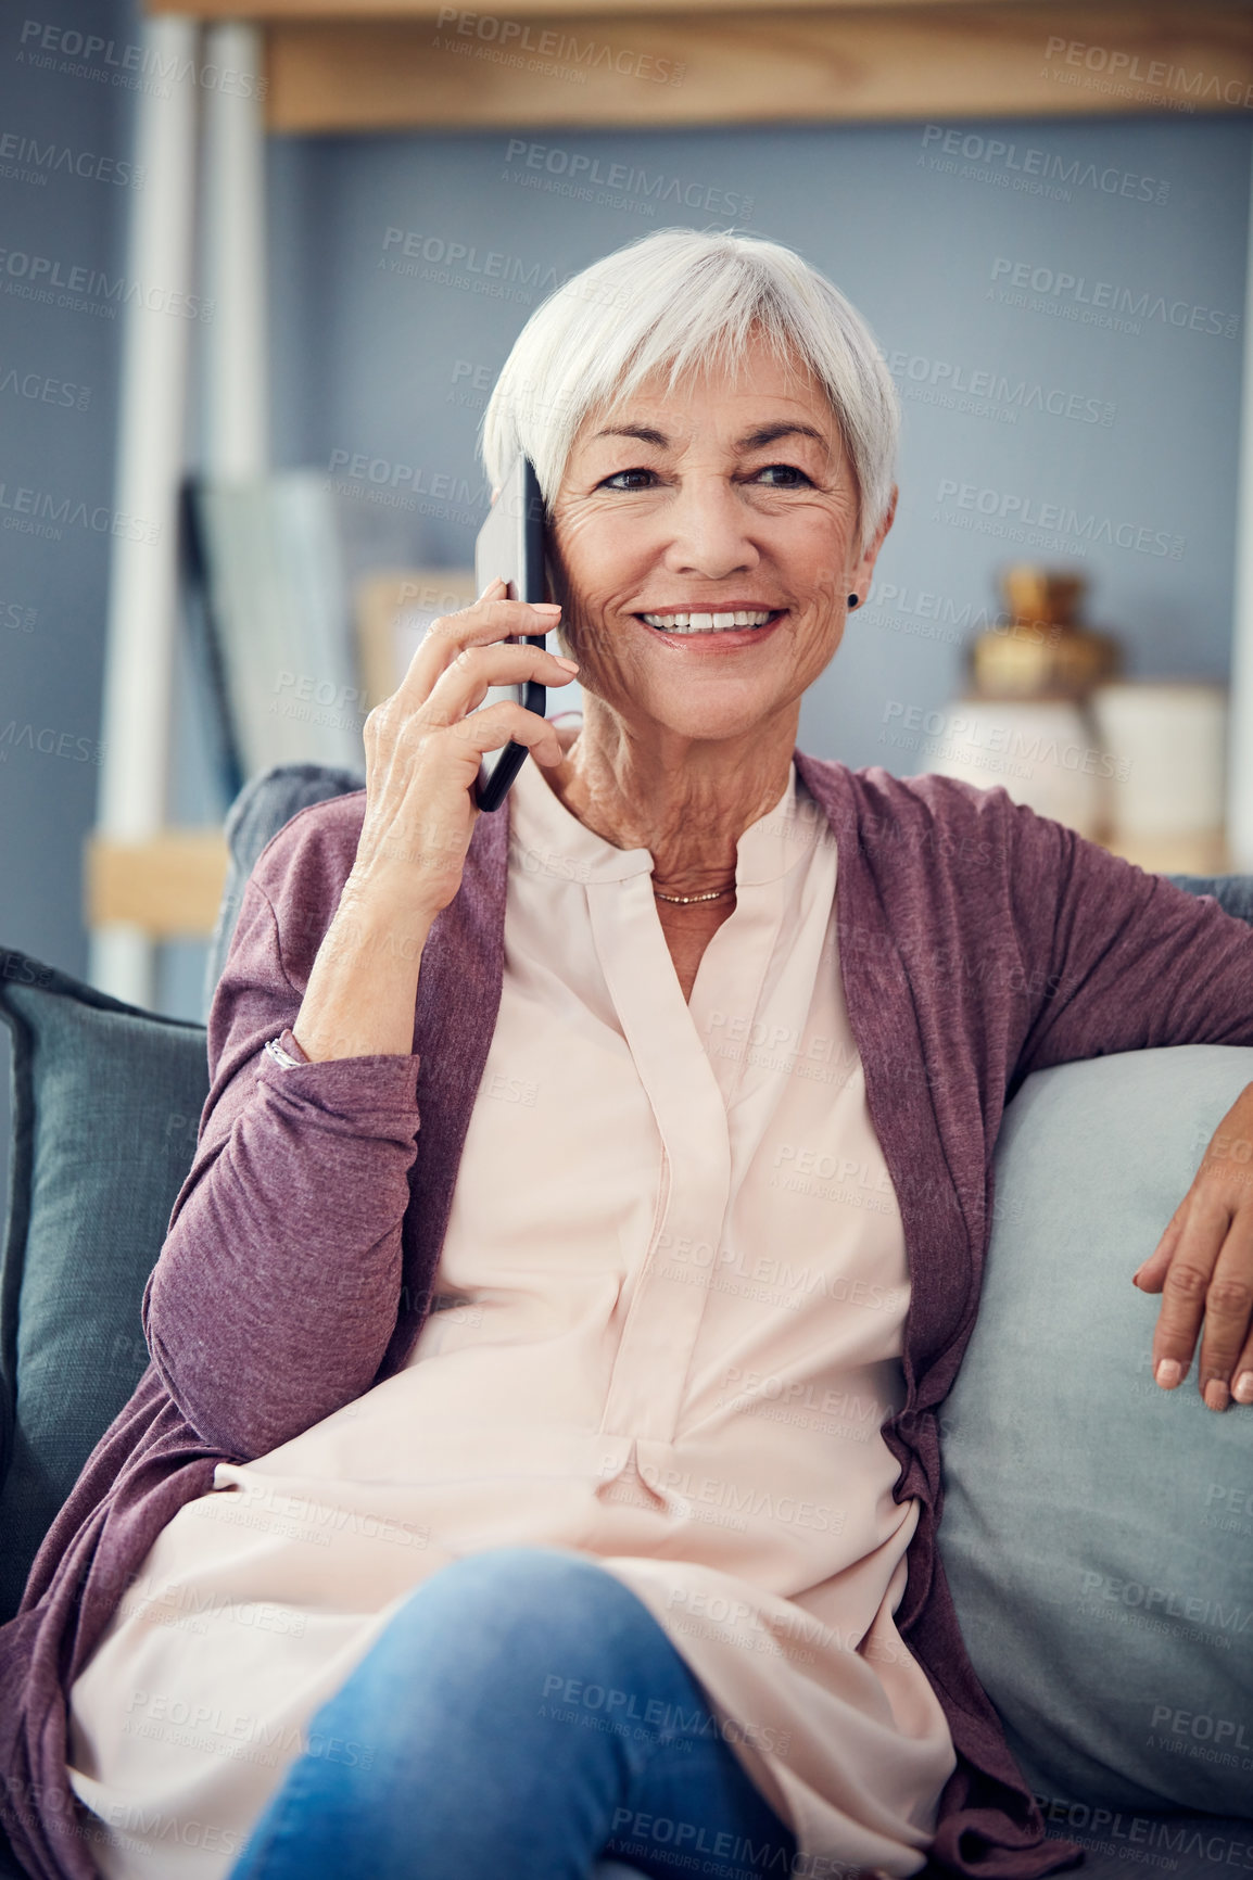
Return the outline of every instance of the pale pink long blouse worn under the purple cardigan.
<path id="1" fill-rule="evenodd" d="M 591 1555 L 645 1602 L 805 1871 L 924 1865 L 956 1758 L 894 1624 L 909 1273 L 835 869 L 792 767 L 685 1004 L 649 852 L 523 765 L 440 1310 L 397 1376 L 218 1465 L 143 1562 L 71 1692 L 107 1880 L 230 1872 L 397 1606 L 500 1545 Z"/>

